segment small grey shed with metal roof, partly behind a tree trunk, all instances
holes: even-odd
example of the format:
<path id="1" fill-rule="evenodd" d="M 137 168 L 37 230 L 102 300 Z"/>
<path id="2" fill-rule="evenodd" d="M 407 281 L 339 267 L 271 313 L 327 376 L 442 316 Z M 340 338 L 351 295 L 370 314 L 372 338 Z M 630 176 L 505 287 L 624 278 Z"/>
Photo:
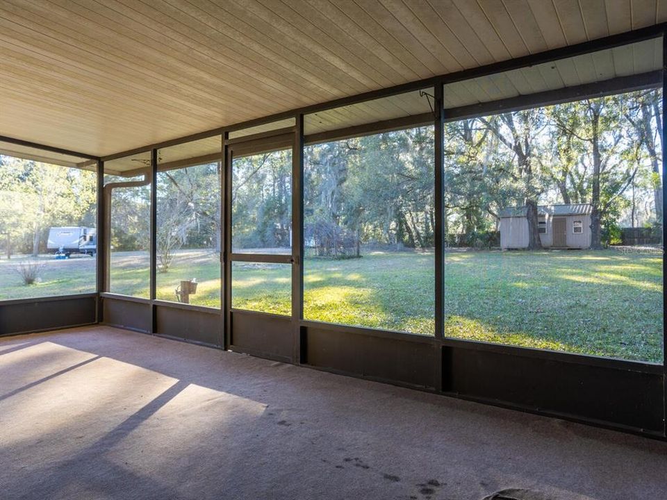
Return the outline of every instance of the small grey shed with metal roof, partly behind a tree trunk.
<path id="1" fill-rule="evenodd" d="M 540 240 L 545 248 L 586 249 L 591 247 L 591 210 L 589 203 L 538 206 Z M 528 247 L 527 207 L 500 210 L 500 247 Z"/>

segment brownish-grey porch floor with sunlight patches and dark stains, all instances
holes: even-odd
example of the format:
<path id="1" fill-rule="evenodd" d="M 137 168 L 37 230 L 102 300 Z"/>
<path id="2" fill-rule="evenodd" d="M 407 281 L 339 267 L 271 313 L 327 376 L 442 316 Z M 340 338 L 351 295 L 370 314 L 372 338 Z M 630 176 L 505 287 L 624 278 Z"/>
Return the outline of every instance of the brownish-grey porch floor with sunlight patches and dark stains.
<path id="1" fill-rule="evenodd" d="M 2 499 L 666 499 L 667 443 L 102 326 L 0 340 Z"/>

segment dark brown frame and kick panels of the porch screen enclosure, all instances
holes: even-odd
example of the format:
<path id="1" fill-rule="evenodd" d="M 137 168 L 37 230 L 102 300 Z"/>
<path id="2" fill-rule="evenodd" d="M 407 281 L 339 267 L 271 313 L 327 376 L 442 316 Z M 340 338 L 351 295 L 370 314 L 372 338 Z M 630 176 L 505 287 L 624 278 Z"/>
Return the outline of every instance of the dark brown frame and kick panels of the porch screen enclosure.
<path id="1" fill-rule="evenodd" d="M 293 260 L 293 297 L 292 311 L 293 316 L 290 319 L 291 351 L 275 354 L 261 350 L 247 349 L 247 352 L 259 356 L 274 357 L 286 360 L 290 363 L 304 364 L 319 369 L 327 369 L 333 372 L 363 376 L 400 385 L 418 387 L 422 390 L 440 392 L 450 396 L 461 397 L 464 399 L 474 399 L 484 401 L 500 406 L 509 406 L 529 412 L 538 412 L 545 415 L 559 416 L 576 421 L 595 424 L 598 426 L 607 426 L 619 428 L 624 431 L 641 433 L 652 437 L 665 438 L 665 415 L 667 413 L 667 363 L 643 363 L 629 360 L 620 360 L 614 358 L 601 358 L 596 356 L 585 356 L 579 354 L 562 353 L 555 351 L 541 351 L 538 349 L 528 349 L 524 347 L 514 347 L 504 344 L 492 344 L 488 342 L 475 342 L 470 340 L 457 340 L 445 338 L 443 335 L 443 316 L 441 313 L 435 317 L 435 332 L 433 337 L 424 335 L 415 335 L 397 331 L 384 331 L 374 328 L 359 328 L 354 326 L 343 326 L 337 324 L 326 324 L 320 322 L 306 321 L 303 319 L 303 147 L 309 142 L 324 142 L 327 140 L 336 140 L 340 138 L 367 135 L 378 133 L 380 131 L 397 130 L 400 128 L 409 128 L 410 126 L 420 126 L 424 124 L 434 125 L 435 137 L 435 209 L 436 209 L 436 257 L 435 257 L 435 303 L 434 308 L 440 312 L 444 310 L 443 303 L 443 128 L 445 120 L 458 119 L 472 115 L 484 115 L 500 113 L 502 111 L 527 108 L 532 106 L 545 105 L 545 103 L 554 103 L 563 100 L 583 99 L 584 97 L 593 97 L 614 92 L 623 91 L 623 85 L 629 85 L 630 81 L 621 81 L 620 79 L 602 88 L 593 88 L 590 85 L 582 85 L 581 88 L 567 89 L 561 92 L 547 92 L 534 94 L 529 97 L 506 99 L 501 102 L 485 103 L 484 105 L 475 105 L 472 107 L 457 108 L 456 110 L 443 110 L 443 92 L 444 85 L 456 81 L 465 81 L 470 78 L 486 76 L 500 72 L 506 72 L 511 69 L 519 69 L 532 65 L 552 62 L 563 58 L 570 58 L 584 53 L 591 53 L 612 47 L 620 47 L 625 44 L 649 40 L 652 38 L 663 37 L 663 60 L 664 66 L 661 72 L 641 75 L 641 78 L 635 78 L 643 88 L 658 85 L 663 90 L 662 110 L 666 110 L 667 101 L 667 24 L 659 24 L 642 28 L 636 31 L 613 35 L 591 42 L 583 42 L 569 47 L 552 49 L 529 56 L 515 58 L 493 63 L 483 67 L 463 70 L 454 74 L 426 78 L 420 81 L 414 81 L 402 85 L 396 85 L 392 88 L 365 92 L 352 97 L 335 99 L 327 103 L 320 103 L 313 106 L 306 106 L 286 113 L 277 113 L 263 117 L 241 122 L 232 126 L 215 128 L 211 131 L 189 135 L 184 138 L 151 144 L 146 147 L 122 151 L 113 155 L 97 158 L 95 156 L 85 155 L 74 151 L 44 147 L 40 144 L 28 143 L 13 138 L 3 138 L 5 142 L 15 144 L 24 144 L 31 147 L 40 147 L 48 151 L 57 153 L 72 154 L 83 158 L 90 158 L 97 161 L 98 172 L 98 267 L 97 267 L 97 321 L 110 324 L 120 324 L 129 328 L 135 328 L 138 331 L 148 331 L 150 333 L 163 334 L 169 337 L 183 338 L 192 342 L 203 342 L 204 344 L 215 344 L 227 349 L 232 344 L 229 338 L 231 327 L 231 290 L 229 285 L 223 286 L 222 308 L 213 310 L 200 306 L 190 306 L 155 299 L 155 190 L 156 190 L 156 172 L 157 159 L 156 151 L 158 148 L 183 144 L 193 140 L 208 138 L 214 135 L 222 135 L 222 158 L 226 163 L 230 158 L 230 148 L 235 142 L 247 142 L 249 138 L 240 138 L 239 140 L 228 140 L 229 133 L 238 131 L 242 128 L 268 124 L 279 119 L 294 117 L 296 119 L 295 127 L 290 131 L 293 134 L 293 254 L 288 256 Z M 637 84 L 635 81 L 635 84 Z M 324 134 L 316 134 L 304 137 L 304 115 L 315 113 L 322 110 L 347 106 L 354 103 L 361 103 L 381 97 L 388 97 L 403 92 L 419 90 L 422 88 L 434 88 L 435 106 L 434 116 L 418 115 L 415 117 L 405 117 L 401 119 L 386 120 L 375 124 L 366 124 L 363 126 L 354 126 L 343 130 L 331 131 Z M 275 133 L 264 134 L 267 137 Z M 259 139 L 259 138 L 256 138 Z M 664 132 L 662 137 L 663 156 L 666 151 L 665 141 L 667 135 Z M 105 269 L 100 263 L 104 262 L 106 252 L 108 251 L 108 241 L 104 241 L 104 207 L 101 203 L 104 187 L 104 161 L 122 158 L 133 153 L 151 150 L 151 178 L 153 180 L 151 187 L 151 298 L 138 299 L 134 297 L 118 296 L 105 292 L 105 283 L 108 280 Z M 666 165 L 663 162 L 663 179 L 667 178 Z M 229 281 L 229 265 L 231 265 L 232 255 L 229 243 L 229 228 L 231 214 L 229 210 L 229 189 L 231 188 L 231 179 L 227 174 L 227 166 L 222 170 L 222 224 L 223 239 L 225 251 L 221 255 L 221 283 Z M 663 183 L 663 190 L 665 183 Z M 664 199 L 664 212 L 667 212 L 667 197 Z M 663 227 L 664 231 L 664 227 Z M 235 258 L 243 258 L 234 256 Z M 667 260 L 663 259 L 663 274 L 667 275 Z M 227 279 L 227 281 L 226 281 Z M 663 285 L 663 313 L 667 306 L 667 297 L 664 293 Z M 54 297 L 53 301 L 63 301 L 69 297 Z M 0 317 L 2 308 L 6 306 L 24 306 L 26 304 L 39 305 L 40 303 L 49 303 L 49 298 L 45 299 L 25 299 L 21 301 L 0 302 Z M 134 306 L 132 306 L 134 304 Z M 171 312 L 170 312 L 171 311 Z M 177 312 L 177 313 L 176 313 Z M 105 317 L 108 313 L 108 317 Z M 188 316 L 195 323 L 195 326 L 189 331 L 192 336 L 187 334 L 179 335 L 164 333 L 160 328 L 160 315 L 181 314 Z M 126 315 L 132 319 L 133 315 L 148 315 L 149 321 L 133 322 L 121 324 L 115 322 L 112 318 Z M 194 315 L 194 316 L 192 316 Z M 246 313 L 241 313 L 243 322 L 256 321 L 257 328 L 272 328 L 272 315 L 255 313 L 250 319 L 245 317 Z M 203 319 L 202 319 L 203 318 Z M 267 323 L 259 322 L 266 320 Z M 202 323 L 204 322 L 204 323 Z M 204 328 L 201 325 L 208 325 L 215 329 L 215 335 L 201 340 L 196 338 L 197 328 Z M 201 328 L 200 328 L 201 327 Z M 187 328 L 186 328 L 187 329 Z M 7 333 L 2 332 L 1 333 Z M 14 332 L 17 333 L 17 332 Z M 187 332 L 186 332 L 187 333 Z M 340 353 L 345 353 L 344 346 L 341 346 L 345 338 L 351 342 L 360 342 L 354 345 L 355 349 L 361 349 L 364 353 L 381 352 L 381 356 L 366 356 L 366 358 L 377 357 L 377 360 L 364 359 L 356 360 L 353 363 L 349 356 L 345 358 Z M 664 338 L 664 341 L 667 340 Z M 329 343 L 327 343 L 329 342 Z M 331 343 L 333 342 L 333 343 Z M 318 344 L 320 343 L 320 344 Z M 379 351 L 376 351 L 379 349 Z M 333 354 L 332 354 L 333 353 Z M 333 356 L 333 357 L 332 357 Z M 336 358 L 338 356 L 338 358 Z M 664 360 L 667 359 L 667 342 L 664 342 Z M 393 360 L 394 362 L 392 363 Z M 413 363 L 412 365 L 410 363 Z M 394 365 L 406 364 L 411 368 L 401 369 Z M 428 369 L 422 369 L 428 365 Z M 516 365 L 516 366 L 515 366 Z M 518 372 L 517 372 L 518 370 Z M 547 372 L 547 374 L 544 374 Z M 491 376 L 490 376 L 491 374 Z M 538 381 L 530 380 L 531 376 L 542 375 Z M 569 378 L 568 378 L 569 377 Z M 578 378 L 577 378 L 578 377 Z M 602 377 L 602 381 L 600 381 Z M 607 378 L 605 378 L 607 377 Z M 498 379 L 507 378 L 505 381 Z M 569 387 L 586 386 L 589 392 L 584 391 L 581 397 L 577 394 L 568 393 L 566 382 L 569 381 Z M 613 397 L 604 397 L 602 401 L 589 401 L 591 396 L 595 396 L 595 390 L 600 386 L 609 390 L 609 394 L 616 392 L 629 401 L 628 408 L 618 410 L 618 401 Z M 559 385 L 560 384 L 560 385 Z M 563 385 L 565 384 L 565 385 Z M 597 384 L 597 385 L 596 385 Z M 605 385 L 606 384 L 606 385 Z M 563 387 L 562 389 L 560 387 Z M 584 387 L 584 388 L 586 388 Z M 650 387 L 651 394 L 644 397 L 644 389 L 648 392 Z M 644 388 L 644 389 L 643 389 Z M 554 394 L 549 392 L 553 391 Z M 657 401 L 656 391 L 660 393 L 660 401 Z M 579 398 L 579 399 L 577 399 Z M 594 408 L 598 406 L 599 408 Z M 646 415 L 650 413 L 650 415 Z"/>

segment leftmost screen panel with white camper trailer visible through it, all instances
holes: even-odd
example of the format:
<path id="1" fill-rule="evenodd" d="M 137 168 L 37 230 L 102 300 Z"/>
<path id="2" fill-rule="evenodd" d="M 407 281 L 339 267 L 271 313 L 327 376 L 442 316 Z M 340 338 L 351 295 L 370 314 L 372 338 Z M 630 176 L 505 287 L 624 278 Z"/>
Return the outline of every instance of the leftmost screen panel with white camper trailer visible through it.
<path id="1" fill-rule="evenodd" d="M 0 300 L 97 291 L 97 163 L 79 163 L 0 144 Z"/>

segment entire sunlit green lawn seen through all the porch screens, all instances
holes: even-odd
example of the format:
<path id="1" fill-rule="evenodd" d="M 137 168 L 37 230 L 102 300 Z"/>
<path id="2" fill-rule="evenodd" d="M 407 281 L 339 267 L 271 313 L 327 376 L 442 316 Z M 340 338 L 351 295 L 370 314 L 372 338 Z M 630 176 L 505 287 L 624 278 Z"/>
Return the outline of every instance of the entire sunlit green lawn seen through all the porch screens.
<path id="1" fill-rule="evenodd" d="M 0 299 L 94 290 L 94 260 L 47 261 L 42 281 L 22 285 L 0 260 Z M 662 360 L 662 256 L 604 251 L 451 251 L 445 256 L 445 335 L 539 349 Z M 111 291 L 148 295 L 146 253 L 113 255 Z M 369 253 L 304 264 L 304 315 L 324 322 L 432 335 L 432 253 Z M 220 307 L 217 253 L 179 251 L 158 273 L 158 299 L 176 300 L 197 278 L 191 303 Z M 63 292 L 65 290 L 65 292 Z M 290 314 L 290 266 L 235 263 L 233 306 Z"/>

